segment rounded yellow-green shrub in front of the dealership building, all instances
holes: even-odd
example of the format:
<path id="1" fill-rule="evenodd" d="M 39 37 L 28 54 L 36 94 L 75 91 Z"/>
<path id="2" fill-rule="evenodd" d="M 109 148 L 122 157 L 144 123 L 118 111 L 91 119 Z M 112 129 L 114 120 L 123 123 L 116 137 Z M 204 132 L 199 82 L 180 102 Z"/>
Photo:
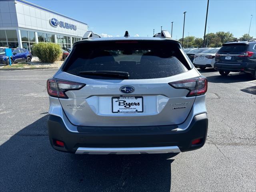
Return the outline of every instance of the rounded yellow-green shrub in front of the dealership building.
<path id="1" fill-rule="evenodd" d="M 32 52 L 38 56 L 42 62 L 53 63 L 62 58 L 62 49 L 55 43 L 34 44 Z"/>

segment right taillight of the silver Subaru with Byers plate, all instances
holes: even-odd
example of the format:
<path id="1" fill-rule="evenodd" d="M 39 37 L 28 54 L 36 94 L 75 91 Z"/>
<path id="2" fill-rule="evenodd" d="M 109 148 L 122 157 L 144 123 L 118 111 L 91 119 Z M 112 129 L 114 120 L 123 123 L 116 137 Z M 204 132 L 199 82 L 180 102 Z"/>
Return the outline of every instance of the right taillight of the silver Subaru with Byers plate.
<path id="1" fill-rule="evenodd" d="M 207 91 L 207 78 L 204 76 L 176 81 L 169 83 L 170 86 L 176 89 L 187 89 L 189 90 L 187 97 L 203 95 Z"/>

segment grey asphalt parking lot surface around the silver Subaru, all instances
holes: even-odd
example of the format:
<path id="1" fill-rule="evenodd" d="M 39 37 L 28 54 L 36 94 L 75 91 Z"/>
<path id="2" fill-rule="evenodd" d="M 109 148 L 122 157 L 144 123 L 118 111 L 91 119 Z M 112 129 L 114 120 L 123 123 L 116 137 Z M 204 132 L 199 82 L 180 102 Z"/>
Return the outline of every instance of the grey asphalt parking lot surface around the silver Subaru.
<path id="1" fill-rule="evenodd" d="M 55 151 L 46 80 L 56 70 L 0 71 L 0 191 L 256 191 L 256 80 L 208 77 L 203 148 L 164 155 L 84 156 Z"/>

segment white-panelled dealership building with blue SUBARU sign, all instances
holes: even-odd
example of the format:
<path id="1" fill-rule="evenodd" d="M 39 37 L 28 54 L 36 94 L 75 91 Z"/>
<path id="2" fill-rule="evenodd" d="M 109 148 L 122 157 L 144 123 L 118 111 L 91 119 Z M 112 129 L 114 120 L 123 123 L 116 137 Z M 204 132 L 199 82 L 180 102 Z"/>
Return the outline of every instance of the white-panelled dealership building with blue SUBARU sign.
<path id="1" fill-rule="evenodd" d="M 48 2 L 48 1 L 47 1 Z M 87 31 L 86 23 L 24 0 L 0 0 L 0 46 L 25 48 L 57 43 L 72 48 Z"/>

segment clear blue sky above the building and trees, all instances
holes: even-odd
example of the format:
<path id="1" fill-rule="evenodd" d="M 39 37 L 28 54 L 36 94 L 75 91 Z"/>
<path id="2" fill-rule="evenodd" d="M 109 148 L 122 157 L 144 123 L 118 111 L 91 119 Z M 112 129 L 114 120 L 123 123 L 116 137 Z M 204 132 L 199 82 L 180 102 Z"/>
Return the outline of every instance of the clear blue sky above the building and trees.
<path id="1" fill-rule="evenodd" d="M 175 39 L 203 38 L 207 0 L 27 0 L 88 24 L 88 30 L 102 36 L 153 36 L 153 29 L 171 32 Z M 234 37 L 248 33 L 256 38 L 256 0 L 210 0 L 206 34 L 232 32 Z"/>

